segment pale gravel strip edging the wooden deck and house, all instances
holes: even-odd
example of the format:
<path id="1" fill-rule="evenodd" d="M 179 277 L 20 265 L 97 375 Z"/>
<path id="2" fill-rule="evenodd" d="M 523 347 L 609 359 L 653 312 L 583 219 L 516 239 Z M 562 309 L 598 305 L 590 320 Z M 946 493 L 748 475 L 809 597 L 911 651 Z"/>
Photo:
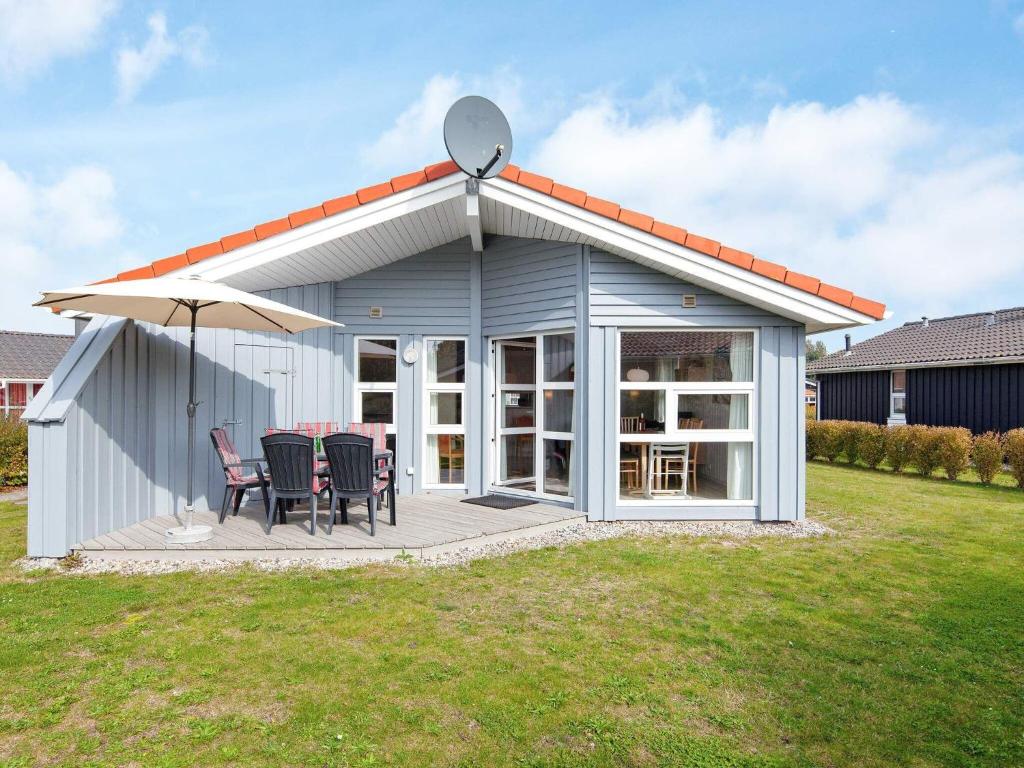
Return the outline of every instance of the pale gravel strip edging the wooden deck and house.
<path id="1" fill-rule="evenodd" d="M 564 528 L 492 544 L 467 544 L 424 558 L 410 555 L 381 561 L 372 558 L 337 559 L 330 557 L 280 557 L 256 560 L 223 560 L 215 557 L 201 560 L 104 560 L 87 556 L 74 558 L 22 558 L 18 565 L 27 571 L 58 570 L 73 575 L 120 573 L 123 575 L 154 575 L 178 571 L 219 571 L 229 568 L 252 567 L 262 571 L 309 568 L 336 570 L 358 567 L 372 563 L 385 565 L 422 565 L 426 567 L 453 567 L 465 565 L 485 557 L 504 557 L 515 552 L 545 547 L 568 547 L 584 542 L 600 542 L 621 538 L 686 537 L 713 539 L 723 542 L 752 542 L 766 539 L 810 539 L 835 531 L 814 520 L 800 522 L 753 521 L 647 521 L 586 522 Z"/>

